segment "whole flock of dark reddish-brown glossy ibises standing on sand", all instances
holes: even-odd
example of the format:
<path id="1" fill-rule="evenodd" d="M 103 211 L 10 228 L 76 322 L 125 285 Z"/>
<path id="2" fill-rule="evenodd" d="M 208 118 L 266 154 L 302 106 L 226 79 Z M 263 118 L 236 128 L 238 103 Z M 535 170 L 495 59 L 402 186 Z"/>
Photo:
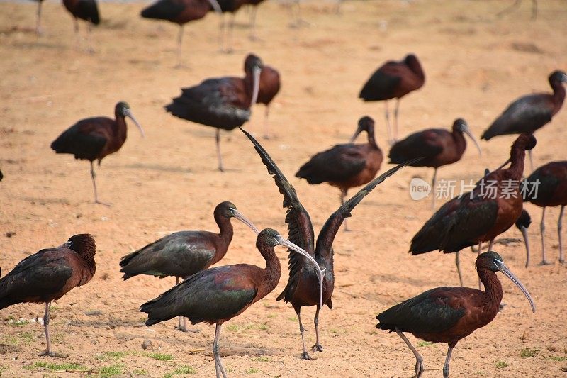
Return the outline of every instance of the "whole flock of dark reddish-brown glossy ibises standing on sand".
<path id="1" fill-rule="evenodd" d="M 93 0 L 78 0 L 73 4 L 83 11 L 93 9 L 77 6 L 84 4 L 84 1 L 94 4 Z M 256 1 L 255 4 L 258 2 Z M 66 0 L 64 4 L 67 9 L 74 9 L 72 5 L 67 5 Z M 179 5 L 179 14 L 175 16 L 176 18 L 173 13 L 167 13 L 165 4 Z M 194 19 L 191 17 L 195 17 L 195 14 L 201 10 L 216 10 L 214 4 L 214 0 L 211 2 L 160 0 L 142 11 L 142 15 L 146 12 L 147 16 L 150 10 L 167 13 L 171 18 L 170 21 L 182 26 Z M 224 2 L 219 1 L 218 4 L 220 9 L 225 11 Z M 183 11 L 181 5 L 185 7 Z M 187 7 L 192 11 L 188 11 Z M 40 11 L 38 16 L 39 14 Z M 77 13 L 75 16 L 84 18 L 82 14 L 84 13 Z M 152 14 L 155 16 L 156 13 Z M 87 18 L 94 21 L 93 16 Z M 98 13 L 96 19 L 98 20 Z M 39 25 L 38 22 L 38 27 Z M 242 78 L 206 79 L 201 84 L 184 88 L 181 95 L 165 106 L 173 116 L 216 129 L 220 171 L 223 171 L 219 144 L 220 129 L 232 130 L 243 126 L 249 120 L 254 104 L 262 103 L 266 105 L 266 109 L 269 109 L 271 100 L 280 88 L 279 72 L 264 65 L 256 55 L 250 54 L 246 57 L 244 70 L 245 76 Z M 523 209 L 524 201 L 543 208 L 541 243 L 544 264 L 548 262 L 544 248 L 545 209 L 546 206 L 561 206 L 558 220 L 559 260 L 564 261 L 561 218 L 567 205 L 567 161 L 549 162 L 534 170 L 527 179 L 522 177 L 526 152 L 531 153 L 536 146 L 533 133 L 549 123 L 561 109 L 566 96 L 563 84 L 566 82 L 565 72 L 552 72 L 549 76 L 552 94 L 522 96 L 513 101 L 496 118 L 485 130 L 482 139 L 490 140 L 497 135 L 520 134 L 512 144 L 510 159 L 498 169 L 485 172 L 470 193 L 444 204 L 411 240 L 412 255 L 433 250 L 444 253 L 455 252 L 459 277 L 461 277 L 459 251 L 478 245 L 476 270 L 485 288 L 482 291 L 480 287 L 479 289 L 462 287 L 461 279 L 461 287 L 431 289 L 378 314 L 376 327 L 397 333 L 414 353 L 416 377 L 420 377 L 424 371 L 422 357 L 404 333 L 412 333 L 416 338 L 433 343 L 447 343 L 449 350 L 443 375 L 448 377 L 451 352 L 456 343 L 474 330 L 490 323 L 499 311 L 503 289 L 496 272 L 502 272 L 520 288 L 529 300 L 532 311 L 535 312 L 534 301 L 527 289 L 506 267 L 503 258 L 492 250 L 495 238 L 510 227 L 516 224 L 520 230 L 525 230 L 529 226 L 529 214 Z M 186 318 L 189 318 L 193 324 L 200 322 L 215 324 L 213 355 L 216 376 L 226 377 L 219 354 L 221 327 L 225 321 L 240 315 L 276 288 L 281 267 L 274 247 L 283 245 L 289 251 L 289 279 L 277 300 L 290 303 L 296 311 L 303 344 L 301 356 L 307 360 L 311 357 L 305 346 L 301 308 L 316 306 L 314 319 L 316 340 L 311 351 L 322 352 L 319 313 L 325 305 L 332 308 L 335 282 L 333 240 L 339 228 L 351 216 L 354 207 L 378 184 L 406 166 L 433 167 L 432 184 L 434 185 L 437 169 L 459 161 L 464 154 L 466 149 L 464 134 L 473 140 L 479 154 L 481 153 L 478 142 L 468 129 L 466 121 L 461 118 L 454 121 L 451 130 L 439 128 L 421 130 L 408 135 L 403 140 L 397 140 L 399 101 L 411 91 L 420 89 L 424 83 L 425 74 L 420 61 L 415 55 L 410 54 L 403 60 L 388 61 L 379 67 L 361 89 L 359 97 L 364 101 L 386 101 L 385 117 L 391 143 L 388 157 L 390 163 L 397 164 L 395 167 L 376 177 L 383 162 L 383 152 L 376 143 L 374 120 L 364 116 L 360 118 L 356 133 L 349 143 L 335 145 L 315 154 L 298 169 L 296 177 L 306 179 L 309 184 L 326 182 L 341 191 L 341 205 L 327 219 L 316 240 L 310 215 L 298 199 L 296 189 L 288 182 L 262 145 L 241 128 L 283 196 L 288 239 L 270 228 L 259 230 L 240 211 L 237 211 L 235 204 L 225 201 L 218 204 L 214 210 L 218 233 L 179 231 L 125 255 L 120 260 L 123 279 L 138 275 L 176 277 L 176 286 L 140 306 L 140 311 L 147 313 L 146 325 L 151 326 L 173 318 L 179 318 L 180 330 L 186 330 Z M 393 130 L 389 126 L 390 115 L 387 105 L 389 99 L 397 101 Z M 127 135 L 125 118 L 131 118 L 140 129 L 142 136 L 144 135 L 130 106 L 120 101 L 116 104 L 115 119 L 102 116 L 82 119 L 64 130 L 51 144 L 51 148 L 57 153 L 71 154 L 79 160 L 89 160 L 94 201 L 97 204 L 102 202 L 99 201 L 96 191 L 94 161 L 98 160 L 100 165 L 103 157 L 118 151 L 125 143 Z M 366 143 L 355 144 L 354 140 L 362 132 L 367 134 Z M 488 182 L 495 183 L 494 196 L 486 195 L 485 185 Z M 530 191 L 524 196 L 522 184 L 532 182 L 539 183 L 538 190 L 535 193 Z M 512 183 L 511 189 L 506 189 L 510 183 Z M 364 187 L 357 194 L 346 200 L 349 189 L 362 185 Z M 506 191 L 510 195 L 504 195 Z M 257 249 L 266 260 L 264 269 L 245 264 L 211 268 L 228 251 L 234 232 L 231 218 L 242 221 L 257 234 Z M 525 241 L 528 248 L 527 239 Z M 483 252 L 482 245 L 485 242 L 489 242 L 488 252 Z M 0 279 L 0 309 L 22 302 L 45 303 L 44 327 L 47 344 L 45 354 L 47 355 L 55 355 L 51 348 L 49 331 L 51 302 L 60 299 L 74 287 L 89 282 L 96 270 L 95 253 L 96 244 L 91 235 L 73 235 L 57 248 L 40 250 L 26 257 Z M 529 248 L 526 265 L 528 264 Z"/>

